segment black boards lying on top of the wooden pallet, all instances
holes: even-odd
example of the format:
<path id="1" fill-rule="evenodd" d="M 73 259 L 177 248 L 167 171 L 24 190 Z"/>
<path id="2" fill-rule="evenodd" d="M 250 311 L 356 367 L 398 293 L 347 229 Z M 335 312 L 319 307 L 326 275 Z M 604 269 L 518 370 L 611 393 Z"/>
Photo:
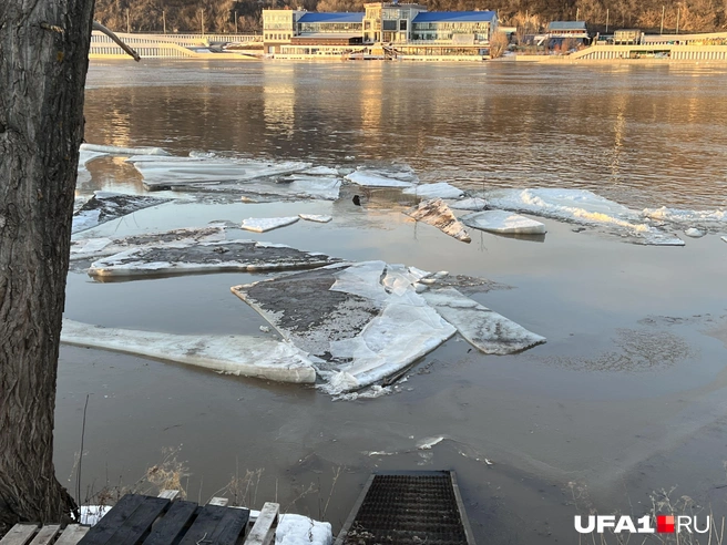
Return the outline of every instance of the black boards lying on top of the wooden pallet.
<path id="1" fill-rule="evenodd" d="M 249 510 L 126 494 L 79 544 L 235 545 L 245 536 L 248 521 Z"/>

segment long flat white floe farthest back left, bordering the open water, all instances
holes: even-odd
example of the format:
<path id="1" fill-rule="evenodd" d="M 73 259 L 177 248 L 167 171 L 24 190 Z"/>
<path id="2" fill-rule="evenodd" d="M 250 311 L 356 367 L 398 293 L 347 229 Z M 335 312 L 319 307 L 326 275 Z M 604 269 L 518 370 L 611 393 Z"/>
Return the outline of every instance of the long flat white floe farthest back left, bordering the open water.
<path id="1" fill-rule="evenodd" d="M 246 182 L 279 176 L 310 167 L 298 161 L 267 162 L 223 157 L 132 156 L 127 160 L 144 177 L 150 189 L 165 189 L 190 184 Z"/>

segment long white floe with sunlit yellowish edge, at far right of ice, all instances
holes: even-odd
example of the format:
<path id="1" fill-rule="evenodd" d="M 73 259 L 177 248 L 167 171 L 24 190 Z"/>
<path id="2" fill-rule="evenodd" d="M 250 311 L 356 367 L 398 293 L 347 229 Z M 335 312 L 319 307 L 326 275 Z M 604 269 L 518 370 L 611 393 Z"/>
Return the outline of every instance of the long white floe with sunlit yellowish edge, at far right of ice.
<path id="1" fill-rule="evenodd" d="M 633 243 L 684 246 L 684 240 L 676 235 L 643 223 L 639 212 L 585 189 L 491 189 L 484 192 L 483 196 L 493 208 L 603 226 L 631 237 Z"/>

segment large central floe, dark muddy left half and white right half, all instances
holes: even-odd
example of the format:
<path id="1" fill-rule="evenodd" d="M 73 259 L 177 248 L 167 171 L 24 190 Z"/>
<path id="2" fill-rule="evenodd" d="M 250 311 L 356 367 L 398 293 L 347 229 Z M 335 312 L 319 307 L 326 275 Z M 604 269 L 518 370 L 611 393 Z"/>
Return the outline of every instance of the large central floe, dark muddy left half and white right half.
<path id="1" fill-rule="evenodd" d="M 339 264 L 233 292 L 284 338 L 320 358 L 324 389 L 338 394 L 396 373 L 454 335 L 416 292 L 413 284 L 424 275 L 383 261 Z"/>

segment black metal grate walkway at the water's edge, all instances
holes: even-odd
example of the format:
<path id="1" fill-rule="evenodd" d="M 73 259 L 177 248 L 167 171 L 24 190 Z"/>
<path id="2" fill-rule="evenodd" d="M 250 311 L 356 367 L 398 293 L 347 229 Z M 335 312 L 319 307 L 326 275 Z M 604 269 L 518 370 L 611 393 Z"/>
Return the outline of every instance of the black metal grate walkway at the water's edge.
<path id="1" fill-rule="evenodd" d="M 451 471 L 371 475 L 336 545 L 474 545 Z"/>

